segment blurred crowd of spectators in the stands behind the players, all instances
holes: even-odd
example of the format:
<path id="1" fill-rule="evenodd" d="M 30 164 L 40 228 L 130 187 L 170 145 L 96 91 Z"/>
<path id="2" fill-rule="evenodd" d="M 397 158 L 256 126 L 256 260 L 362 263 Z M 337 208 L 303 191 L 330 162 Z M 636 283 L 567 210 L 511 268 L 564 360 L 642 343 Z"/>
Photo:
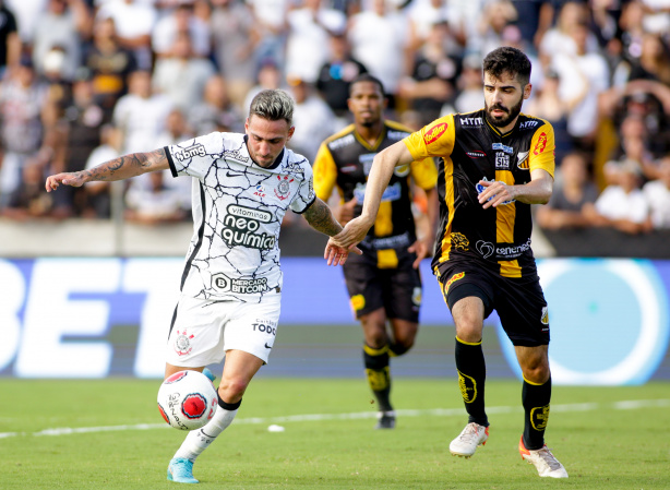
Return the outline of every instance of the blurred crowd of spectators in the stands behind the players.
<path id="1" fill-rule="evenodd" d="M 524 112 L 555 131 L 537 223 L 670 229 L 670 0 L 0 0 L 0 216 L 108 218 L 109 183 L 47 194 L 45 175 L 243 131 L 263 88 L 294 95 L 310 160 L 361 72 L 412 129 L 477 110 L 503 45 L 534 63 Z M 124 186 L 127 219 L 190 219 L 188 179 Z"/>

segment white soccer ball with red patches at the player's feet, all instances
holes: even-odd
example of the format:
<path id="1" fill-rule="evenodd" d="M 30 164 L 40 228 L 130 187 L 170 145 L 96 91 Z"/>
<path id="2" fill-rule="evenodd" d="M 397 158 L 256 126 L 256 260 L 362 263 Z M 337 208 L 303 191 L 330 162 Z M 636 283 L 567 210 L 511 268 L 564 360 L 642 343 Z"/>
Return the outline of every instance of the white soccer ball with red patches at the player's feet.
<path id="1" fill-rule="evenodd" d="M 212 381 L 198 371 L 179 371 L 158 390 L 158 410 L 175 429 L 200 429 L 214 417 L 218 395 Z"/>

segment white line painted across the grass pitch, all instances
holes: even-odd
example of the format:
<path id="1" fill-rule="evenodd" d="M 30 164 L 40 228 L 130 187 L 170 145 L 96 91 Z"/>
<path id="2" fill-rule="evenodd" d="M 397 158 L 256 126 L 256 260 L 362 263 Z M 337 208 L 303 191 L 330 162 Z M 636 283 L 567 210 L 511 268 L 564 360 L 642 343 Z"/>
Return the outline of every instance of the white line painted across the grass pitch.
<path id="1" fill-rule="evenodd" d="M 551 411 L 594 411 L 603 408 L 611 408 L 614 410 L 637 410 L 641 408 L 661 408 L 670 407 L 670 399 L 632 399 L 612 402 L 609 404 L 600 403 L 579 403 L 579 404 L 562 404 L 551 405 Z M 487 408 L 488 414 L 515 414 L 523 411 L 521 406 L 500 406 Z M 402 417 L 454 417 L 463 416 L 463 408 L 430 408 L 422 410 L 395 410 L 398 416 Z M 313 422 L 323 420 L 357 420 L 357 419 L 372 419 L 376 418 L 376 411 L 358 411 L 350 414 L 304 414 L 304 415 L 288 415 L 285 417 L 247 417 L 236 418 L 235 423 L 243 425 L 263 425 L 263 423 L 286 423 L 286 422 Z M 70 435 L 70 434 L 83 434 L 93 432 L 118 432 L 124 430 L 154 430 L 154 429 L 170 429 L 165 422 L 161 423 L 134 423 L 127 426 L 101 426 L 101 427 L 61 427 L 55 429 L 45 429 L 38 432 L 0 432 L 0 439 L 15 438 L 15 437 L 44 437 L 44 435 Z"/>

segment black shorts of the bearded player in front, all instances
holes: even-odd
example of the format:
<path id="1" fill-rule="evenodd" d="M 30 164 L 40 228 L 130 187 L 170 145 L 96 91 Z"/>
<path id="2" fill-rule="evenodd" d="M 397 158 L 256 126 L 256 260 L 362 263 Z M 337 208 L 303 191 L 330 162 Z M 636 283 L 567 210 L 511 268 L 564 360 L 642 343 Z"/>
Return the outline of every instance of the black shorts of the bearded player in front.
<path id="1" fill-rule="evenodd" d="M 549 344 L 547 300 L 537 274 L 502 277 L 476 264 L 455 262 L 443 268 L 440 283 L 450 310 L 459 299 L 476 296 L 483 301 L 484 319 L 495 310 L 515 346 Z"/>

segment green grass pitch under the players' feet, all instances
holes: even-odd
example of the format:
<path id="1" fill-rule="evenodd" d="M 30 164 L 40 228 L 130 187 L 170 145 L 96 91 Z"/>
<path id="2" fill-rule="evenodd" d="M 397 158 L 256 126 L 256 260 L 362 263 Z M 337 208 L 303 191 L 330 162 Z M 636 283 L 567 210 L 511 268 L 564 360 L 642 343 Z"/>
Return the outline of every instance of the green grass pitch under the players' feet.
<path id="1" fill-rule="evenodd" d="M 158 380 L 0 380 L 0 489 L 175 489 L 184 433 L 163 426 Z M 670 383 L 555 386 L 547 442 L 567 480 L 517 452 L 521 385 L 487 384 L 491 435 L 470 459 L 448 442 L 466 418 L 455 378 L 394 381 L 397 428 L 374 431 L 362 379 L 255 380 L 198 459 L 202 489 L 669 489 Z M 284 432 L 270 432 L 270 425 Z M 147 425 L 143 428 L 136 425 Z M 182 486 L 183 487 L 183 486 Z"/>

